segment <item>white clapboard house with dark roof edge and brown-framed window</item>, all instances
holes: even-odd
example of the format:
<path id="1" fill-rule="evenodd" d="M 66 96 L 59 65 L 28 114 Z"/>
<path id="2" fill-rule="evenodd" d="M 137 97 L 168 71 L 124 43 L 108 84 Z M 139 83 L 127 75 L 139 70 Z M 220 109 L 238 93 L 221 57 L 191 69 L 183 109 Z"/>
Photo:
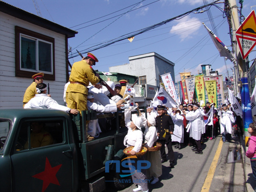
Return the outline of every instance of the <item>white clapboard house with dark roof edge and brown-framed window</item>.
<path id="1" fill-rule="evenodd" d="M 76 31 L 0 1 L 0 109 L 21 108 L 32 75 L 43 72 L 52 98 L 64 104 L 68 38 Z"/>

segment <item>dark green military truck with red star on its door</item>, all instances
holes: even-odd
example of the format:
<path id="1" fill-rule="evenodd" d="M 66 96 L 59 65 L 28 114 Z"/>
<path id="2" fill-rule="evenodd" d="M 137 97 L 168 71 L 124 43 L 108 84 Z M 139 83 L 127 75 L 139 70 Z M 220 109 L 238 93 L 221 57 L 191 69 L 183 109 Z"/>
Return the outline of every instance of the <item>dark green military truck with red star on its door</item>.
<path id="1" fill-rule="evenodd" d="M 107 160 L 124 157 L 127 128 L 119 128 L 120 114 L 83 111 L 82 116 L 73 116 L 51 109 L 0 110 L 1 191 L 101 192 L 106 189 L 106 178 L 118 189 L 126 187 L 127 183 L 118 182 L 115 168 L 105 173 Z M 106 117 L 115 118 L 118 126 L 87 141 L 86 121 Z M 39 146 L 42 138 L 48 139 Z"/>

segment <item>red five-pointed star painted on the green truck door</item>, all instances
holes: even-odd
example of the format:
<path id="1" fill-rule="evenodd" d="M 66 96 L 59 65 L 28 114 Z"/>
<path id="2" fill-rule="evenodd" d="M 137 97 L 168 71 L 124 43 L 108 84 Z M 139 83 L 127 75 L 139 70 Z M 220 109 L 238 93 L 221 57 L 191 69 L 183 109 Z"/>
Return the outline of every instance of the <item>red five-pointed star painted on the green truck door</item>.
<path id="1" fill-rule="evenodd" d="M 49 186 L 50 183 L 53 183 L 55 185 L 60 185 L 56 177 L 56 173 L 59 171 L 59 168 L 61 167 L 61 165 L 62 164 L 52 167 L 48 158 L 46 157 L 44 171 L 32 176 L 37 179 L 43 180 L 42 192 L 46 190 L 46 188 Z"/>

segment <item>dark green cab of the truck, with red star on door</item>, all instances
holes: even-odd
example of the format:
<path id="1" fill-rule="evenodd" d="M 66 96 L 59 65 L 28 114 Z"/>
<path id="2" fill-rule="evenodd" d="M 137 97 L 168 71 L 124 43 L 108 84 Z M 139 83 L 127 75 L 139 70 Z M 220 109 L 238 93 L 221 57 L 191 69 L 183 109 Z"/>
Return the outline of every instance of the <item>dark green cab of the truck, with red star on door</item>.
<path id="1" fill-rule="evenodd" d="M 50 141 L 45 141 L 49 138 Z M 77 191 L 78 155 L 74 138 L 71 118 L 66 112 L 0 110 L 1 190 Z M 44 144 L 39 146 L 41 141 Z"/>

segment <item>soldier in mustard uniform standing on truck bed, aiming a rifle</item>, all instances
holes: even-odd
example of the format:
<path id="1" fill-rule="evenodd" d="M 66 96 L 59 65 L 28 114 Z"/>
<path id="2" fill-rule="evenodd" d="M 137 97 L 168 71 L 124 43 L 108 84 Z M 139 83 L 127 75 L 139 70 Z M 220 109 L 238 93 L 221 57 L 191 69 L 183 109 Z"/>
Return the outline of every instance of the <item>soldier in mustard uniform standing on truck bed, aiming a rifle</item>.
<path id="1" fill-rule="evenodd" d="M 81 61 L 75 62 L 71 69 L 69 77 L 69 86 L 66 92 L 67 106 L 78 111 L 88 110 L 87 108 L 87 86 L 95 85 L 100 81 L 99 75 L 94 75 L 91 68 L 95 65 L 98 59 L 92 53 L 87 53 L 87 56 Z"/>

